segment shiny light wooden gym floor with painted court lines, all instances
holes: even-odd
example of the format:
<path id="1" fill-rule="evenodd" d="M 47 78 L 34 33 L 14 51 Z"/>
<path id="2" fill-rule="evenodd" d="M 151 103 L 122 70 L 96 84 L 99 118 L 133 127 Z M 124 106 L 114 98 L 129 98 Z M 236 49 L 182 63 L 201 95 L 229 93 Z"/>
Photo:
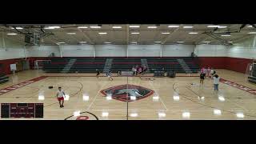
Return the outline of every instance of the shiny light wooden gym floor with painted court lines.
<path id="1" fill-rule="evenodd" d="M 216 71 L 221 78 L 256 89 L 254 84 L 246 82 L 245 74 L 230 70 Z M 114 81 L 109 81 L 106 77 L 100 77 L 98 80 L 94 75 L 45 74 L 41 70 L 11 74 L 10 82 L 0 85 L 0 90 L 33 78 L 49 77 L 1 94 L 0 103 L 42 102 L 44 103 L 42 119 L 72 120 L 78 118 L 73 114 L 79 111 L 80 116 L 89 119 L 126 120 L 127 103 L 107 99 L 101 90 L 125 85 L 127 77 L 114 77 Z M 196 75 L 198 74 L 193 74 Z M 222 82 L 219 84 L 219 91 L 214 92 L 210 78 L 206 78 L 203 86 L 199 85 L 198 77 L 188 77 L 186 74 L 177 74 L 176 78 L 155 78 L 153 81 L 130 77 L 128 84 L 154 90 L 154 94 L 146 98 L 128 102 L 129 120 L 256 119 L 256 95 Z M 54 88 L 49 89 L 48 86 Z M 70 95 L 69 100 L 64 103 L 64 108 L 59 107 L 56 99 L 58 86 L 62 86 L 66 94 Z M 38 100 L 38 94 L 44 95 L 45 99 Z M 89 96 L 89 99 L 83 100 L 83 95 Z"/>

